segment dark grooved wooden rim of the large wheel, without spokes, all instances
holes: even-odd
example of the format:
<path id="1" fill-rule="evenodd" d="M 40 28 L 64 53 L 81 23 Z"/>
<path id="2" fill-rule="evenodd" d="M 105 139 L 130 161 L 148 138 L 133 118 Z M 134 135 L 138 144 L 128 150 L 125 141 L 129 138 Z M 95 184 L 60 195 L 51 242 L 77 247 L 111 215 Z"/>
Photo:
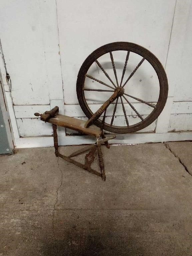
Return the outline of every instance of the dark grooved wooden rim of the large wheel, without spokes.
<path id="1" fill-rule="evenodd" d="M 142 56 L 152 65 L 159 80 L 160 91 L 159 91 L 159 98 L 156 104 L 156 108 L 154 108 L 154 110 L 148 115 L 146 119 L 144 119 L 143 121 L 137 124 L 130 125 L 129 127 L 114 126 L 114 125 L 110 126 L 109 124 L 106 124 L 106 123 L 104 124 L 104 130 L 107 130 L 109 132 L 115 132 L 115 133 L 136 132 L 141 129 L 144 129 L 145 127 L 147 127 L 157 119 L 157 117 L 160 115 L 160 113 L 162 112 L 165 106 L 167 95 L 168 95 L 168 82 L 167 82 L 167 76 L 166 76 L 165 70 L 162 64 L 160 63 L 160 61 L 157 59 L 157 57 L 153 53 L 151 53 L 149 50 L 145 49 L 144 47 L 134 43 L 129 43 L 129 42 L 115 42 L 115 43 L 106 44 L 96 49 L 86 58 L 86 60 L 84 61 L 84 63 L 82 64 L 79 70 L 78 77 L 77 77 L 77 87 L 76 87 L 77 97 L 83 112 L 88 118 L 91 118 L 93 116 L 93 112 L 91 111 L 91 109 L 89 108 L 86 102 L 85 94 L 83 91 L 85 77 L 87 75 L 87 72 L 90 66 L 99 57 L 101 57 L 106 53 L 118 51 L 118 50 L 130 51 Z M 102 121 L 96 120 L 94 124 L 97 125 L 98 127 L 101 127 Z"/>

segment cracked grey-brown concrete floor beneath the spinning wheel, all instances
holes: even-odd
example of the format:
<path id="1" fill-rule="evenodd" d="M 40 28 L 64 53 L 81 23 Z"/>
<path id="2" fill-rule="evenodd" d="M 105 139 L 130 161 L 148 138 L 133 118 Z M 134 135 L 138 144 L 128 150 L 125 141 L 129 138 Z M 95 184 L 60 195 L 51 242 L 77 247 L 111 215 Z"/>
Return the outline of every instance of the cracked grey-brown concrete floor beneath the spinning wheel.
<path id="1" fill-rule="evenodd" d="M 0 157 L 0 256 L 192 255 L 192 142 L 103 151 L 106 182 L 53 148 Z"/>

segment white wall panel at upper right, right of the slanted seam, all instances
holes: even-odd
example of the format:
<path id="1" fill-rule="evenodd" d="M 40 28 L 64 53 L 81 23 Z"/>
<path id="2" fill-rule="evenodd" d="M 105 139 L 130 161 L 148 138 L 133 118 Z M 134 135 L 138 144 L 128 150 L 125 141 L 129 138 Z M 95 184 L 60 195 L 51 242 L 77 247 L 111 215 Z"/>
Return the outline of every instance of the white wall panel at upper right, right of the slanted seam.
<path id="1" fill-rule="evenodd" d="M 192 101 L 191 31 L 192 1 L 177 0 L 166 65 L 169 96 L 174 96 L 174 101 Z"/>

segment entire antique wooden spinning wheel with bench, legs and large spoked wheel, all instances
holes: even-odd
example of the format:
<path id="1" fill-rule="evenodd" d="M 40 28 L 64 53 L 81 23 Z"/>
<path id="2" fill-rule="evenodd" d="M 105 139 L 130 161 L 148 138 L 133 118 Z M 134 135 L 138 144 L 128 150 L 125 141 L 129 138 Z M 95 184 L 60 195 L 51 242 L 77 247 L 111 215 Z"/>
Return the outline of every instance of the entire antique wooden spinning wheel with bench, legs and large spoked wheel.
<path id="1" fill-rule="evenodd" d="M 143 71 L 142 67 L 145 67 Z M 150 78 L 156 76 L 156 80 L 149 79 L 147 71 Z M 142 81 L 141 77 L 144 82 L 138 85 L 139 81 Z M 109 148 L 108 140 L 114 139 L 115 135 L 110 134 L 110 137 L 106 138 L 103 130 L 130 133 L 152 124 L 160 115 L 167 100 L 167 76 L 160 61 L 150 51 L 134 43 L 116 42 L 98 48 L 87 57 L 79 70 L 76 90 L 79 104 L 88 121 L 61 115 L 57 106 L 43 114 L 35 113 L 35 116 L 40 116 L 42 121 L 53 125 L 57 157 L 105 180 L 101 145 L 105 144 Z M 152 94 L 156 99 L 150 96 Z M 118 121 L 115 120 L 117 113 L 117 116 L 120 116 Z M 121 122 L 122 119 L 124 122 Z M 92 135 L 97 141 L 69 156 L 62 155 L 58 151 L 57 125 Z M 101 172 L 91 168 L 96 149 Z M 89 153 L 85 156 L 85 164 L 73 159 L 86 151 Z"/>

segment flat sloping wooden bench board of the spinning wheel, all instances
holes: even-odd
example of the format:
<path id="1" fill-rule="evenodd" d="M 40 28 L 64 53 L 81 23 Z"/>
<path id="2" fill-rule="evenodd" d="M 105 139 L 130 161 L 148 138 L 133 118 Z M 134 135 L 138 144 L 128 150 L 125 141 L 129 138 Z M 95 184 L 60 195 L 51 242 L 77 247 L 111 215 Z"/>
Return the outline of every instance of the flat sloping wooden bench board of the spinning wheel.
<path id="1" fill-rule="evenodd" d="M 61 114 L 57 114 L 55 117 L 49 118 L 46 122 L 66 127 L 95 137 L 97 137 L 97 135 L 100 136 L 102 133 L 101 129 L 94 124 L 92 124 L 88 128 L 85 128 L 84 126 L 86 124 L 86 121 Z"/>

